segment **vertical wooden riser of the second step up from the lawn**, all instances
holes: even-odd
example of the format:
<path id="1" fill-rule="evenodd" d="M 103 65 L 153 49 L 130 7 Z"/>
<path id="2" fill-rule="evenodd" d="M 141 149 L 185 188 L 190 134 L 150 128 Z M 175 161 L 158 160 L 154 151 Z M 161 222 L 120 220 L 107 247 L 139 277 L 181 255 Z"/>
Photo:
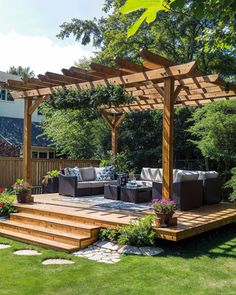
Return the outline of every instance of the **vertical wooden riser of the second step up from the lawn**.
<path id="1" fill-rule="evenodd" d="M 53 223 L 49 221 L 44 221 L 44 220 L 37 220 L 33 218 L 28 218 L 26 216 L 21 216 L 18 214 L 13 214 L 11 215 L 11 220 L 20 222 L 20 223 L 25 223 L 25 224 L 32 224 L 36 226 L 42 226 L 44 228 L 49 228 L 49 229 L 55 229 L 55 230 L 61 230 L 67 233 L 75 233 L 75 234 L 87 234 L 90 237 L 95 237 L 99 233 L 99 229 L 86 229 L 86 228 L 80 228 L 80 227 L 74 227 L 74 226 L 69 226 L 69 225 L 63 225 L 63 224 L 58 224 L 58 223 Z"/>

